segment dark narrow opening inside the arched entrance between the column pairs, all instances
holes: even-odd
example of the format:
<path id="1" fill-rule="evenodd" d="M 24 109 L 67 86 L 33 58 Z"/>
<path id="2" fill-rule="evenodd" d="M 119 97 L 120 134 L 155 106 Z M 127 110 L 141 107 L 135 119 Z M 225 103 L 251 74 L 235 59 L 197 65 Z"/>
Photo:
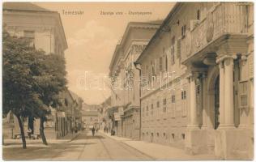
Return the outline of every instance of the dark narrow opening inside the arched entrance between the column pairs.
<path id="1" fill-rule="evenodd" d="M 214 129 L 220 125 L 220 75 L 215 79 Z"/>

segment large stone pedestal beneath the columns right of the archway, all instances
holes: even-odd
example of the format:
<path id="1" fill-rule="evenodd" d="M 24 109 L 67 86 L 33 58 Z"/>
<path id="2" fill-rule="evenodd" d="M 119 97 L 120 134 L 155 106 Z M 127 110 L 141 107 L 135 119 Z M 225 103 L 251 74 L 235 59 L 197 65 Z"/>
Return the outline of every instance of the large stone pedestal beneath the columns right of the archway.
<path id="1" fill-rule="evenodd" d="M 250 130 L 221 127 L 215 131 L 215 156 L 221 160 L 253 160 L 254 135 Z"/>

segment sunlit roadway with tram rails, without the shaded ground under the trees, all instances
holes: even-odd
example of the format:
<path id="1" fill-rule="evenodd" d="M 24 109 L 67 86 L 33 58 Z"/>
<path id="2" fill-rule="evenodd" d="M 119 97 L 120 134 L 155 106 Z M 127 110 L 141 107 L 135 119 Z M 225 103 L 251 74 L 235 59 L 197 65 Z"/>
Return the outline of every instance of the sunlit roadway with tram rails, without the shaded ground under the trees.
<path id="1" fill-rule="evenodd" d="M 70 154 L 70 147 L 76 146 Z M 69 155 L 70 154 L 70 155 Z M 71 156 L 74 155 L 74 156 Z M 125 143 L 110 139 L 105 134 L 86 131 L 66 144 L 66 148 L 52 160 L 151 160 L 149 156 L 127 146 Z"/>

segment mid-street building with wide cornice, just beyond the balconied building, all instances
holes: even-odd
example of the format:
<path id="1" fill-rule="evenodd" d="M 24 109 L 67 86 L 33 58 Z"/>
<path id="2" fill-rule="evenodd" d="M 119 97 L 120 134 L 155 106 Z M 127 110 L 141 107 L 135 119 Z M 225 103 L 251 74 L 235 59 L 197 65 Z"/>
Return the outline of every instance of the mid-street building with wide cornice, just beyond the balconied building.
<path id="1" fill-rule="evenodd" d="M 161 21 L 130 22 L 122 40 L 113 53 L 109 66 L 112 81 L 111 105 L 115 112 L 114 128 L 117 135 L 139 139 L 140 101 L 139 70 L 134 61 L 160 27 Z"/>

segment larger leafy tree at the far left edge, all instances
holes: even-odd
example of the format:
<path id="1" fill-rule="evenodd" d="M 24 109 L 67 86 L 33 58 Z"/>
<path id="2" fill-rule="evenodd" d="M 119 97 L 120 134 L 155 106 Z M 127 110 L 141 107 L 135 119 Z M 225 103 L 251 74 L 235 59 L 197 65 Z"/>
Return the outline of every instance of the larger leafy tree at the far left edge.
<path id="1" fill-rule="evenodd" d="M 26 148 L 26 139 L 22 118 L 34 116 L 36 109 L 43 105 L 32 86 L 35 79 L 31 75 L 31 66 L 36 64 L 34 51 L 27 39 L 3 32 L 2 112 L 11 111 L 17 117 L 23 148 Z"/>

